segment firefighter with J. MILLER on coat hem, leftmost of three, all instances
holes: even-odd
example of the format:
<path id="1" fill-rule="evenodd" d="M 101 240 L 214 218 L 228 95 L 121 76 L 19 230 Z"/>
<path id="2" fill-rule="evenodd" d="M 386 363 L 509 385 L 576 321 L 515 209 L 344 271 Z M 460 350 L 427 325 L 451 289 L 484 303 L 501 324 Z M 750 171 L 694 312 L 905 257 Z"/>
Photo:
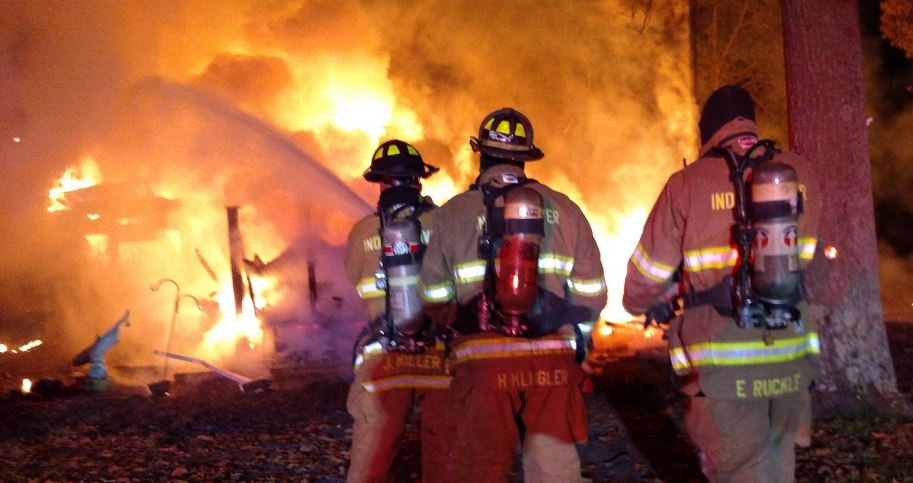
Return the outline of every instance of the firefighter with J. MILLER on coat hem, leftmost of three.
<path id="1" fill-rule="evenodd" d="M 356 341 L 355 380 L 346 401 L 355 420 L 349 482 L 392 480 L 390 467 L 414 406 L 422 478 L 444 478 L 450 377 L 418 288 L 418 265 L 438 211 L 422 196 L 421 179 L 437 170 L 411 144 L 391 140 L 377 148 L 364 173 L 381 192 L 377 212 L 355 225 L 346 245 L 346 275 L 369 321 Z"/>

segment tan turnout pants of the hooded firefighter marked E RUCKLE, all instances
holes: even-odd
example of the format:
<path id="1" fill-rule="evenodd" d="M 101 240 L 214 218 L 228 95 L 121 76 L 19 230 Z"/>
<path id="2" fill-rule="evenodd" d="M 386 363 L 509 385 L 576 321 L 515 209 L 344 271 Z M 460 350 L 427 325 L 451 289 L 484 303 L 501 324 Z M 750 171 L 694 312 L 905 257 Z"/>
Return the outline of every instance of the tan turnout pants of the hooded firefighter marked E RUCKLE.
<path id="1" fill-rule="evenodd" d="M 685 427 L 713 483 L 795 481 L 796 443 L 808 444 L 808 392 L 776 399 L 691 396 Z"/>

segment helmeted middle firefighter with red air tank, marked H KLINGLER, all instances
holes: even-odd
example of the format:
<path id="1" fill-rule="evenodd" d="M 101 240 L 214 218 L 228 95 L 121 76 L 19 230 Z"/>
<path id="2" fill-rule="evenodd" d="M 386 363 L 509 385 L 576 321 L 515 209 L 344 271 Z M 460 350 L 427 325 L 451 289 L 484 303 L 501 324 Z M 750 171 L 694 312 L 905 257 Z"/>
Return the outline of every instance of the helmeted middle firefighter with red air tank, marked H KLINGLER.
<path id="1" fill-rule="evenodd" d="M 519 442 L 525 481 L 580 481 L 578 329 L 606 302 L 599 249 L 573 201 L 526 177 L 543 153 L 523 114 L 487 115 L 470 146 L 480 174 L 441 207 L 422 264 L 426 311 L 454 330 L 450 476 L 507 481 Z"/>

